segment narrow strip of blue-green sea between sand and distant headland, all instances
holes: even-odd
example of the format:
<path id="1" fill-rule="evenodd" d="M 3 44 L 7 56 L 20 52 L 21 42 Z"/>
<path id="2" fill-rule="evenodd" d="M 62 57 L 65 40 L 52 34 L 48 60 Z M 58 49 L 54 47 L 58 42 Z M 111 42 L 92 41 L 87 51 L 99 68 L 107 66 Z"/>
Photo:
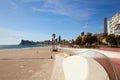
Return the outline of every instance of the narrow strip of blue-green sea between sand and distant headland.
<path id="1" fill-rule="evenodd" d="M 48 45 L 0 45 L 0 50 L 45 47 Z"/>

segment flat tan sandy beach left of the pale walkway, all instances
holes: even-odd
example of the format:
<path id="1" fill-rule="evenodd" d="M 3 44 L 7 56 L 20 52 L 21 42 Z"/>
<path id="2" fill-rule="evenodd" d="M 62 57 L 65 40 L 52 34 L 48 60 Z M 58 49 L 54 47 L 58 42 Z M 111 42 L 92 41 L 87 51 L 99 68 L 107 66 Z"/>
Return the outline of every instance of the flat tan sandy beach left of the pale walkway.
<path id="1" fill-rule="evenodd" d="M 55 59 L 50 47 L 0 51 L 0 80 L 50 80 Z"/>

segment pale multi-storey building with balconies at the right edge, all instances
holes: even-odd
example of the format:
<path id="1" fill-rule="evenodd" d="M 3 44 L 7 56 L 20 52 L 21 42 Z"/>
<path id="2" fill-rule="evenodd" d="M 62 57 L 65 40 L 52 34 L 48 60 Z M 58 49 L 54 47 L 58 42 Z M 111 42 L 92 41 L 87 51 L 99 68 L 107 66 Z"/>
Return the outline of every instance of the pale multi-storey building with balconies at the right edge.
<path id="1" fill-rule="evenodd" d="M 120 35 L 120 11 L 108 20 L 108 34 Z"/>

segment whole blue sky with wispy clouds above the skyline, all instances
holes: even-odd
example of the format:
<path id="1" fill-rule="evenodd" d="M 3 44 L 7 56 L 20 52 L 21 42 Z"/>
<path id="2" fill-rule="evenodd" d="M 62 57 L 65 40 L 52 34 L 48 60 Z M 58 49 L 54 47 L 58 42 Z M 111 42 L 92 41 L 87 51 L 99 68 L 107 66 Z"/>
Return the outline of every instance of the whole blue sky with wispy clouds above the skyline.
<path id="1" fill-rule="evenodd" d="M 120 11 L 120 0 L 0 0 L 0 45 L 21 40 L 76 39 L 102 33 L 103 18 Z"/>

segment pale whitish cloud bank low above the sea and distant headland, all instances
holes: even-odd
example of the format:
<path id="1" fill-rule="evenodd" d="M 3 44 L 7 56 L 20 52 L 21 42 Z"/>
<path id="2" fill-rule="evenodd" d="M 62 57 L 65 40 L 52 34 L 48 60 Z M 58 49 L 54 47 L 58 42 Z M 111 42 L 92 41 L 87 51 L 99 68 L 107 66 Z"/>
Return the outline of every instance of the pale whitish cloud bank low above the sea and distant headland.
<path id="1" fill-rule="evenodd" d="M 30 33 L 0 27 L 0 45 L 19 44 L 21 39 L 41 41 L 50 39 L 50 36 L 43 33 Z"/>

